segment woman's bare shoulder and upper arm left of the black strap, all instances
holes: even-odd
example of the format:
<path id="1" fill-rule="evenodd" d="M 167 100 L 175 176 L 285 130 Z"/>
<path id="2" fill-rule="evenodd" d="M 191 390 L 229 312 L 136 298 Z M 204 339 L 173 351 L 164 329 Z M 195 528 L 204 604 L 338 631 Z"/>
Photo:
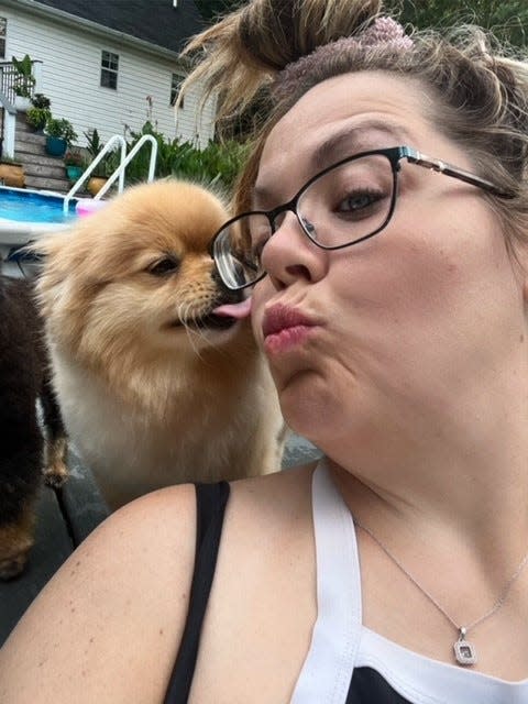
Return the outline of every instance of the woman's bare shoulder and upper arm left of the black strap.
<path id="1" fill-rule="evenodd" d="M 191 485 L 154 492 L 101 524 L 0 651 L 0 701 L 163 701 L 187 613 Z"/>

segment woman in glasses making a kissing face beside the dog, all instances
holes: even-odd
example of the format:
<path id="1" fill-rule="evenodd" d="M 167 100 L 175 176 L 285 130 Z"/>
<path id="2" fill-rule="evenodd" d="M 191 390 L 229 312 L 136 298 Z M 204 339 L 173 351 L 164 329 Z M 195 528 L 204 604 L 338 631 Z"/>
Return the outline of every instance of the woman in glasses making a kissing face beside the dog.
<path id="1" fill-rule="evenodd" d="M 6 704 L 528 701 L 528 73 L 378 10 L 253 0 L 193 46 L 228 111 L 271 87 L 213 250 L 327 459 L 215 490 L 190 607 L 194 487 L 112 516 Z"/>

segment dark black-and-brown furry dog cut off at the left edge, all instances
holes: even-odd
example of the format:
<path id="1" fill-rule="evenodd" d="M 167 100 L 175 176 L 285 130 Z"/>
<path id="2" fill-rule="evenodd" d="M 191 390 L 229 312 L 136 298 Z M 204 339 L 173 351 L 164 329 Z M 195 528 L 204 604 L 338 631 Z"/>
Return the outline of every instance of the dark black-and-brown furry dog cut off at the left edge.
<path id="1" fill-rule="evenodd" d="M 43 429 L 37 419 L 41 399 Z M 67 476 L 66 439 L 50 383 L 44 330 L 33 284 L 0 276 L 0 579 L 22 572 L 34 543 L 42 471 L 48 484 Z"/>

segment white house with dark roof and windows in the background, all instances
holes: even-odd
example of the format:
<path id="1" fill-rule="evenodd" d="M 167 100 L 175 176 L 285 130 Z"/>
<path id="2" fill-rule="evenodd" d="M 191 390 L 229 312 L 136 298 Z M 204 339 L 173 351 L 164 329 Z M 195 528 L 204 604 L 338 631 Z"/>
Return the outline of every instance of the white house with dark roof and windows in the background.
<path id="1" fill-rule="evenodd" d="M 0 63 L 36 62 L 35 91 L 73 123 L 80 145 L 92 128 L 106 141 L 151 120 L 166 138 L 205 146 L 213 103 L 199 122 L 196 94 L 177 114 L 172 105 L 185 74 L 178 53 L 201 26 L 191 0 L 0 0 Z"/>

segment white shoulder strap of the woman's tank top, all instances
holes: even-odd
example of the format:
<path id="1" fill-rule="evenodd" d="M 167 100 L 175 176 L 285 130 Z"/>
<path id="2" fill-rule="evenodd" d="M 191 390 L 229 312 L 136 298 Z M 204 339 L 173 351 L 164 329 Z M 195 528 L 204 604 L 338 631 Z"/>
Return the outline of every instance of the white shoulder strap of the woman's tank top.
<path id="1" fill-rule="evenodd" d="M 292 704 L 345 704 L 362 629 L 352 516 L 321 460 L 312 479 L 318 615 Z"/>

